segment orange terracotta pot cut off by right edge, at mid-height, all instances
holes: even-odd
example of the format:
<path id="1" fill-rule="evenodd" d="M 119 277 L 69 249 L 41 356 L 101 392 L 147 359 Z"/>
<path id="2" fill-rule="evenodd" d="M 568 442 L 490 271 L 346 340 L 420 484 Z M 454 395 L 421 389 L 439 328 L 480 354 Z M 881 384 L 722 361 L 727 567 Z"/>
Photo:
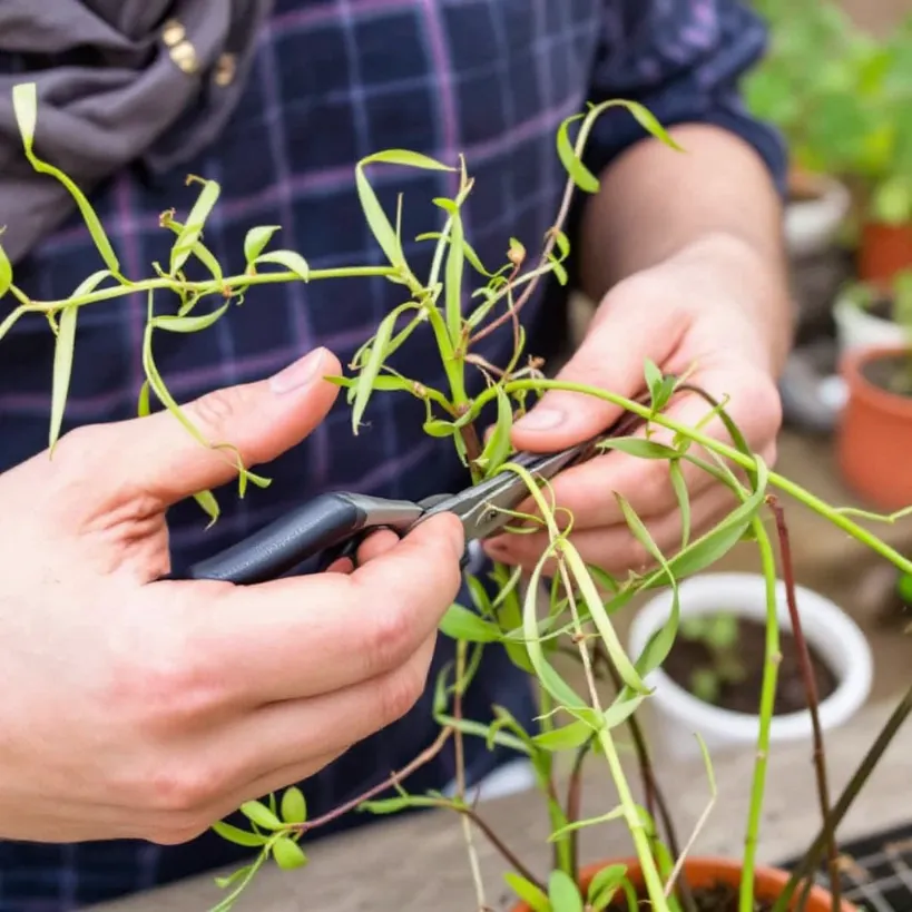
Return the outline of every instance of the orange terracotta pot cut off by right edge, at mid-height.
<path id="1" fill-rule="evenodd" d="M 836 434 L 840 470 L 857 494 L 890 512 L 912 504 L 912 399 L 875 386 L 864 369 L 906 351 L 891 346 L 849 352 L 842 367 L 849 400 Z"/>

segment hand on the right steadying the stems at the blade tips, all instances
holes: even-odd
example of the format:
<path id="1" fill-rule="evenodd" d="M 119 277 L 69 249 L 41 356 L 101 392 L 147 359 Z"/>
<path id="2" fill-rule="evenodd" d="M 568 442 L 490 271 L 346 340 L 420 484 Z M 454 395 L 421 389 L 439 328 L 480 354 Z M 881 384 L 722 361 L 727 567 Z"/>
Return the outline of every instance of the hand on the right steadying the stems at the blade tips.
<path id="1" fill-rule="evenodd" d="M 716 400 L 727 398 L 726 411 L 769 464 L 781 424 L 775 373 L 783 327 L 767 325 L 768 302 L 753 302 L 752 287 L 743 278 L 747 273 L 738 268 L 736 258 L 726 261 L 725 254 L 709 246 L 694 248 L 616 285 L 558 379 L 634 399 L 645 390 L 646 359 L 664 373 L 693 370 L 688 382 Z M 668 418 L 687 426 L 709 411 L 694 393 L 678 394 L 666 409 Z M 604 432 L 619 414 L 592 396 L 550 391 L 517 422 L 513 443 L 522 450 L 556 451 Z M 670 432 L 658 425 L 654 430 L 654 440 L 670 442 Z M 703 432 L 730 442 L 717 418 Z M 698 448 L 692 452 L 703 454 Z M 697 535 L 723 519 L 736 501 L 728 488 L 699 469 L 688 463 L 681 463 L 681 469 Z M 654 565 L 629 532 L 615 492 L 629 501 L 663 553 L 670 556 L 680 547 L 681 518 L 664 460 L 608 452 L 562 472 L 552 489 L 557 506 L 573 516 L 573 545 L 591 565 L 621 575 Z M 533 512 L 531 503 L 521 509 Z M 546 547 L 546 532 L 507 533 L 491 539 L 486 550 L 499 561 L 531 569 Z"/>

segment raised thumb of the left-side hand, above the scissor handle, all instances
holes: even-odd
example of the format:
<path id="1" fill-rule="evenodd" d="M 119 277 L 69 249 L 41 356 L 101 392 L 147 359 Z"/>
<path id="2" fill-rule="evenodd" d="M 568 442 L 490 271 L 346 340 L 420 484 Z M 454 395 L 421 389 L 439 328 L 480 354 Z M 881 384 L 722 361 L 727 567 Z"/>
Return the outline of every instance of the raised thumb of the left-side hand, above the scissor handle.
<path id="1" fill-rule="evenodd" d="M 224 484 L 237 475 L 238 455 L 252 468 L 306 438 L 339 392 L 324 377 L 340 372 L 339 360 L 317 349 L 267 380 L 216 390 L 183 405 L 209 447 L 167 411 L 109 425 L 117 455 L 106 467 L 106 479 L 117 486 L 114 490 L 139 489 L 163 508 Z"/>

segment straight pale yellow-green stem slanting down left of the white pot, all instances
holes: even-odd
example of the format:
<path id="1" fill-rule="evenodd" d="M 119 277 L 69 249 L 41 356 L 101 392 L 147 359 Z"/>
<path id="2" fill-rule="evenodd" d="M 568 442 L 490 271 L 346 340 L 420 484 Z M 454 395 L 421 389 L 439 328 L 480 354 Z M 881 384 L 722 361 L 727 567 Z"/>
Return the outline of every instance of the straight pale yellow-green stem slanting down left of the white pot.
<path id="1" fill-rule="evenodd" d="M 573 586 L 569 579 L 567 566 L 562 558 L 558 559 L 558 568 L 560 570 L 563 588 L 567 592 L 567 600 L 570 606 L 570 612 L 573 617 L 573 627 L 577 634 L 577 645 L 579 646 L 579 655 L 582 659 L 582 669 L 586 675 L 586 683 L 589 687 L 589 699 L 592 708 L 604 718 L 605 710 L 601 708 L 601 700 L 598 696 L 598 688 L 596 687 L 596 679 L 592 674 L 592 664 L 589 658 L 589 649 L 586 646 L 586 638 L 582 632 L 582 625 L 579 620 L 579 610 L 577 609 L 576 598 L 573 598 Z M 608 761 L 608 768 L 611 772 L 611 778 L 615 781 L 615 787 L 618 791 L 618 800 L 620 806 L 624 808 L 624 817 L 627 821 L 627 828 L 630 831 L 630 836 L 634 840 L 634 846 L 637 852 L 640 867 L 643 870 L 643 881 L 646 886 L 646 893 L 653 905 L 655 912 L 669 912 L 668 899 L 665 895 L 665 890 L 659 876 L 656 861 L 653 857 L 653 846 L 649 843 L 649 836 L 643 826 L 643 821 L 630 793 L 630 786 L 627 784 L 627 778 L 624 775 L 624 766 L 620 762 L 617 747 L 608 727 L 601 725 L 598 729 L 598 741 L 601 749 L 605 752 L 605 757 Z"/>

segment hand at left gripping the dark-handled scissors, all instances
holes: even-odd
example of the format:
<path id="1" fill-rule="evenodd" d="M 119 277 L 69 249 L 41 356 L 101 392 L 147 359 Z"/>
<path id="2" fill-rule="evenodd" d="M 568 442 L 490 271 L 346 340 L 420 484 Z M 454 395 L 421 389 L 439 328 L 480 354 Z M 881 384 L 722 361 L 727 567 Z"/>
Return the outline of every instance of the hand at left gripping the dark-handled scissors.
<path id="1" fill-rule="evenodd" d="M 323 420 L 339 370 L 321 350 L 184 408 L 252 467 Z M 233 475 L 168 412 L 0 475 L 0 839 L 188 841 L 421 695 L 460 584 L 455 517 L 350 575 L 160 580 L 166 509 Z"/>

